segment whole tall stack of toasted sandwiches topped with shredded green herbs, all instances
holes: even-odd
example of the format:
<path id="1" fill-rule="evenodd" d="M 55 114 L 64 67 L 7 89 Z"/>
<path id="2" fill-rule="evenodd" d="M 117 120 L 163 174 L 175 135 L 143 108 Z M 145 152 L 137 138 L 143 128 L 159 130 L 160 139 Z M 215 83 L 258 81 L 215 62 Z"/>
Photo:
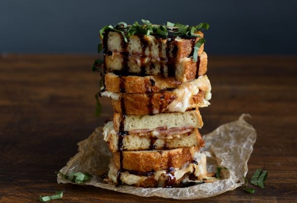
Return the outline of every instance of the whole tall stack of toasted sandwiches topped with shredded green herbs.
<path id="1" fill-rule="evenodd" d="M 113 154 L 105 182 L 137 187 L 184 187 L 214 180 L 206 170 L 200 107 L 210 105 L 202 29 L 147 20 L 105 26 L 100 96 L 114 117 L 103 138 Z"/>

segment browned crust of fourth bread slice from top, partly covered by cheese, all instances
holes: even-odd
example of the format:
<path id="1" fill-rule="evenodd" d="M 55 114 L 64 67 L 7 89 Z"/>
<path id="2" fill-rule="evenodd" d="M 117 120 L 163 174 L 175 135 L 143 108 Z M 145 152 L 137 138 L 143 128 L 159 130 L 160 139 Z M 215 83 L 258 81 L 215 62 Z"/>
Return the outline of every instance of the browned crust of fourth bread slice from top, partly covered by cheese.
<path id="1" fill-rule="evenodd" d="M 199 91 L 199 93 L 193 95 L 190 98 L 190 106 L 187 109 L 202 107 L 205 93 L 205 91 Z M 111 99 L 114 112 L 133 115 L 152 115 L 168 112 L 168 105 L 177 98 L 171 91 L 152 94 L 121 94 L 120 97 L 120 100 Z"/>

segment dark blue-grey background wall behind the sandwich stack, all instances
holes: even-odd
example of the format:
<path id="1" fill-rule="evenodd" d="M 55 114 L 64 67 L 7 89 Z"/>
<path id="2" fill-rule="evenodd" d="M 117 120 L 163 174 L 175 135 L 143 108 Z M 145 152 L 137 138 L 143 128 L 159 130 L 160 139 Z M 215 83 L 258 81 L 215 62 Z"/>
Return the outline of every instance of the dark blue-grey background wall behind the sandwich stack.
<path id="1" fill-rule="evenodd" d="M 0 53 L 96 53 L 101 27 L 143 18 L 155 24 L 208 22 L 208 53 L 297 53 L 293 0 L 1 0 Z"/>

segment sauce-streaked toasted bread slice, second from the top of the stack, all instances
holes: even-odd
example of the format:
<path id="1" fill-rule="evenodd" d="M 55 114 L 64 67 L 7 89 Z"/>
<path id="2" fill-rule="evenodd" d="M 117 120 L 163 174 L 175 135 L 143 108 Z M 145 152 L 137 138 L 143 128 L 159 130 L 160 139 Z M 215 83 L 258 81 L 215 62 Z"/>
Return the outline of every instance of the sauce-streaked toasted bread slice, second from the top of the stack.
<path id="1" fill-rule="evenodd" d="M 105 55 L 104 60 L 107 73 L 173 77 L 178 81 L 184 82 L 193 80 L 206 73 L 207 54 L 202 52 L 199 56 L 199 62 L 195 62 L 188 57 L 168 62 L 168 60 L 157 60 L 143 56 L 123 58 L 121 54 L 113 53 L 112 55 Z"/>

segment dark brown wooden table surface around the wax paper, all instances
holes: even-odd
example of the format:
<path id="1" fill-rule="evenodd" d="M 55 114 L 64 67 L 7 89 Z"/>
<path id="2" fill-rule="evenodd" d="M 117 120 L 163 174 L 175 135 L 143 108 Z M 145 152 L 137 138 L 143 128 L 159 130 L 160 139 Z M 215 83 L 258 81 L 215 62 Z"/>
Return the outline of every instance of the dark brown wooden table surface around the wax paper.
<path id="1" fill-rule="evenodd" d="M 0 56 L 0 202 L 177 202 L 139 197 L 91 186 L 57 184 L 56 174 L 77 153 L 76 143 L 112 116 L 109 99 L 94 116 L 98 74 L 95 55 Z M 268 170 L 266 188 L 242 187 L 181 202 L 297 202 L 297 57 L 209 56 L 211 106 L 201 110 L 203 134 L 242 113 L 257 131 L 248 162 Z"/>

